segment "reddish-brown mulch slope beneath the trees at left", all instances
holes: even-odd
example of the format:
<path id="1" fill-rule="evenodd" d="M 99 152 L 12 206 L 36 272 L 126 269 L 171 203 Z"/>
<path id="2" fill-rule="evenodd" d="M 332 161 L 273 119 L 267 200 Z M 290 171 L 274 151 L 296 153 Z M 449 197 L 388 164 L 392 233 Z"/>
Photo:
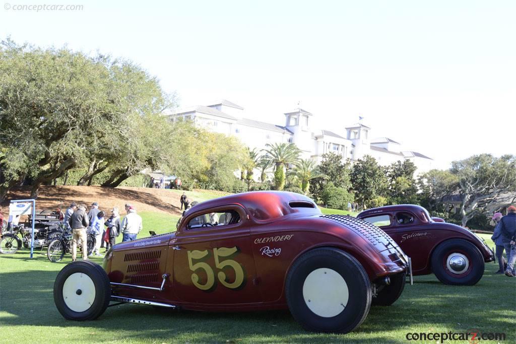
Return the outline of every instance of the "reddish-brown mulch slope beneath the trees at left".
<path id="1" fill-rule="evenodd" d="M 29 187 L 14 189 L 7 194 L 7 202 L 2 203 L 2 206 L 8 206 L 10 200 L 27 199 L 29 195 Z M 71 202 L 84 203 L 89 208 L 92 202 L 98 202 L 101 210 L 109 212 L 116 206 L 123 214 L 125 203 L 130 203 L 137 211 L 167 212 L 180 216 L 179 198 L 180 193 L 169 189 L 42 186 L 36 200 L 36 209 L 55 209 L 59 203 L 62 203 L 63 208 L 66 209 Z"/>

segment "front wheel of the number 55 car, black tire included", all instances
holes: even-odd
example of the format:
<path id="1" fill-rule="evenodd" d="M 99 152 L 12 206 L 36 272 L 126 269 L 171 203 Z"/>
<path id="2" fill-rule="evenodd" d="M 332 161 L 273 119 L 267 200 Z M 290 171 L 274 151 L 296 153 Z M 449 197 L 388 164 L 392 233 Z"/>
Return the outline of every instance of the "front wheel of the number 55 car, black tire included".
<path id="1" fill-rule="evenodd" d="M 106 310 L 111 295 L 109 278 L 98 264 L 83 260 L 57 274 L 54 303 L 68 320 L 94 320 Z"/>

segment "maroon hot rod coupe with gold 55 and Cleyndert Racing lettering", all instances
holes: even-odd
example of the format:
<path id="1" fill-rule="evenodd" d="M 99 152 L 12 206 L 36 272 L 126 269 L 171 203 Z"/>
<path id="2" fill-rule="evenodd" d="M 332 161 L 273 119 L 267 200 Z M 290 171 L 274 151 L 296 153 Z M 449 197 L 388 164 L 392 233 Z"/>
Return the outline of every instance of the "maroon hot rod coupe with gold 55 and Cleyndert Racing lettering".
<path id="1" fill-rule="evenodd" d="M 408 257 L 370 223 L 322 215 L 291 192 L 246 192 L 190 208 L 175 233 L 115 245 L 103 268 L 63 268 L 63 317 L 91 320 L 110 301 L 203 311 L 288 308 L 311 331 L 352 331 L 370 305 L 390 305 Z"/>

